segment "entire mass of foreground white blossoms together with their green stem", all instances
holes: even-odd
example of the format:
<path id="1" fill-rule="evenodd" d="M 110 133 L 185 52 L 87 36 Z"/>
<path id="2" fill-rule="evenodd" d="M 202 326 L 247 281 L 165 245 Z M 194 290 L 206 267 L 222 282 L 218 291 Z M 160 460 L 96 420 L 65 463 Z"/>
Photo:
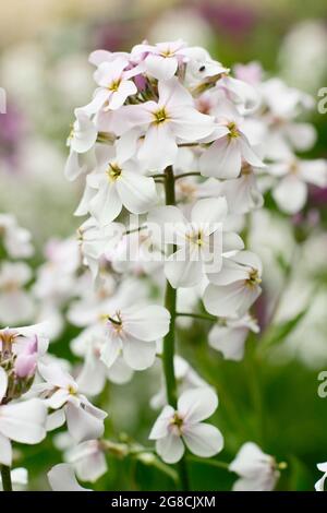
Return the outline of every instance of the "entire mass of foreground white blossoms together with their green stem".
<path id="1" fill-rule="evenodd" d="M 65 165 L 66 178 L 84 183 L 75 214 L 87 217 L 77 240 L 48 243 L 37 271 L 32 294 L 47 329 L 0 331 L 0 464 L 12 464 L 10 440 L 37 443 L 65 426 L 57 439 L 65 463 L 48 474 L 53 490 L 85 490 L 76 477 L 96 481 L 106 452 L 164 468 L 182 461 L 186 489 L 189 453 L 210 458 L 223 437 L 204 422 L 218 395 L 177 354 L 179 327 L 209 322 L 210 348 L 243 358 L 249 333 L 259 332 L 253 306 L 263 274 L 249 250 L 249 215 L 270 189 L 281 211 L 298 213 L 307 183 L 327 184 L 326 162 L 296 155 L 315 140 L 298 119 L 311 98 L 265 79 L 258 65 L 232 74 L 182 40 L 97 50 L 89 61 L 96 88 L 75 109 Z M 31 255 L 29 237 L 10 217 L 0 216 L 2 235 L 12 258 Z M 28 310 L 22 288 L 29 279 L 24 263 L 1 265 L 4 325 L 13 301 Z M 72 369 L 46 355 L 64 315 L 78 330 Z M 93 404 L 107 380 L 126 383 L 160 361 L 162 386 L 150 406 L 162 410 L 148 439 L 164 463 L 131 440 L 104 439 L 107 411 Z M 239 475 L 234 490 L 272 490 L 282 464 L 247 442 L 228 468 Z"/>

